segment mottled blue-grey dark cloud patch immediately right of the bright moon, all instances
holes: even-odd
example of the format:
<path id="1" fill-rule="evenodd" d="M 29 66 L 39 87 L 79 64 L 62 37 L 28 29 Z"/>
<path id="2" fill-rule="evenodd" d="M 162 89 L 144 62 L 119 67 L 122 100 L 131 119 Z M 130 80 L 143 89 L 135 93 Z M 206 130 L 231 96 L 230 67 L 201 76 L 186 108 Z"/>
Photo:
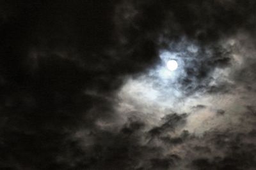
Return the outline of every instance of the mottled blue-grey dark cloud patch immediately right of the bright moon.
<path id="1" fill-rule="evenodd" d="M 209 53 L 208 50 L 212 50 L 212 52 Z M 212 73 L 216 68 L 230 66 L 229 53 L 228 49 L 221 46 L 205 46 L 205 49 L 199 49 L 197 53 L 184 53 L 180 56 L 184 57 L 186 61 L 184 74 L 179 78 L 181 89 L 188 95 L 200 91 L 215 93 L 214 89 L 216 88 L 218 89 L 216 92 L 225 89 L 221 85 L 219 85 L 221 87 L 216 87 L 209 84 L 214 80 Z"/>

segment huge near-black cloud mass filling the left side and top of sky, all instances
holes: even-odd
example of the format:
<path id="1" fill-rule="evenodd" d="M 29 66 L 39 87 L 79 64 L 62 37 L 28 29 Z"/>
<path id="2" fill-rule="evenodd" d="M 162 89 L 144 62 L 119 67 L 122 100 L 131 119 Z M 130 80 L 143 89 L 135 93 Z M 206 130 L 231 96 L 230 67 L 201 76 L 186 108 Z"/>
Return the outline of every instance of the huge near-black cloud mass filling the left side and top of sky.
<path id="1" fill-rule="evenodd" d="M 0 169 L 179 167 L 186 159 L 171 148 L 185 145 L 188 151 L 187 143 L 199 140 L 182 129 L 189 114 L 166 115 L 152 127 L 139 116 L 126 119 L 118 113 L 116 92 L 126 76 L 160 63 L 159 50 L 183 50 L 186 45 L 179 42 L 184 37 L 199 46 L 196 53 L 184 50 L 180 55 L 186 63 L 178 80 L 184 94 L 229 92 L 228 83 L 209 85 L 214 71 L 232 62 L 232 49 L 221 46 L 220 40 L 239 30 L 253 36 L 255 5 L 196 0 L 1 1 Z M 170 44 L 177 45 L 167 48 Z M 252 68 L 253 63 L 234 80 L 242 81 Z M 255 113 L 253 106 L 247 109 Z M 243 141 L 243 136 L 255 140 L 255 131 L 208 135 L 202 140 L 211 138 L 224 157 L 195 157 L 189 166 L 255 168 L 255 145 Z M 199 145 L 191 148 L 195 155 L 213 153 L 212 145 Z"/>

